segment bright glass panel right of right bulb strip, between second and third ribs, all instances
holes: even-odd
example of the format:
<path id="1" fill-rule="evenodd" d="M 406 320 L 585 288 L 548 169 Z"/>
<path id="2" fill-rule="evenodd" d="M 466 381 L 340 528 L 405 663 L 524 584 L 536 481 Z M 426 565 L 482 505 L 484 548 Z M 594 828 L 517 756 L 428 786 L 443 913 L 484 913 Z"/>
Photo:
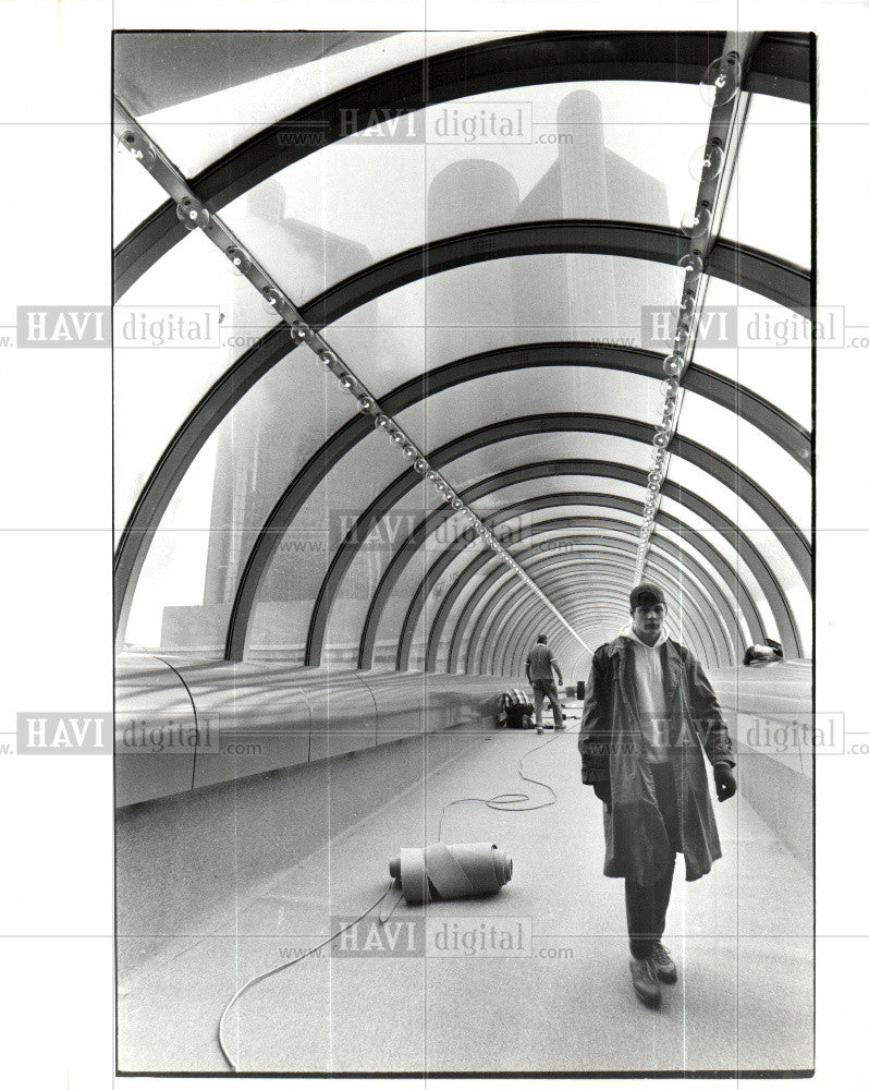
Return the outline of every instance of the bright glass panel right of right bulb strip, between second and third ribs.
<path id="1" fill-rule="evenodd" d="M 701 322 L 697 363 L 811 427 L 811 330 L 805 318 L 754 291 L 710 280 Z"/>

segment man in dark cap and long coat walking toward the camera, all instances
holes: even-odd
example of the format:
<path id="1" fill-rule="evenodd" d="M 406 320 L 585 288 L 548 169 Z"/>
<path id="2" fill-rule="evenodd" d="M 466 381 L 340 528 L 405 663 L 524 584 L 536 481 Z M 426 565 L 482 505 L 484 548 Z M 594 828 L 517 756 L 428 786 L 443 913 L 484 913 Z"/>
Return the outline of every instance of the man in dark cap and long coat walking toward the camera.
<path id="1" fill-rule="evenodd" d="M 685 877 L 707 874 L 721 845 L 703 752 L 719 802 L 736 792 L 733 746 L 702 667 L 671 640 L 653 583 L 631 592 L 631 623 L 595 652 L 579 751 L 583 783 L 603 802 L 603 873 L 624 877 L 631 976 L 638 998 L 661 1001 L 676 981 L 662 945 L 676 852 Z"/>

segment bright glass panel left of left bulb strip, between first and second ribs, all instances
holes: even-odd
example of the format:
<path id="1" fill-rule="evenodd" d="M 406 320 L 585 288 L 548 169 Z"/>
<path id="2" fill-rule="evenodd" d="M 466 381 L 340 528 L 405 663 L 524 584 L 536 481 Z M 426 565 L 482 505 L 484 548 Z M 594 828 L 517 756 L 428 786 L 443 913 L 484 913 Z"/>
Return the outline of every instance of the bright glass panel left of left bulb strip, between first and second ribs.
<path id="1" fill-rule="evenodd" d="M 114 310 L 118 528 L 187 414 L 276 320 L 200 231 L 126 292 Z"/>

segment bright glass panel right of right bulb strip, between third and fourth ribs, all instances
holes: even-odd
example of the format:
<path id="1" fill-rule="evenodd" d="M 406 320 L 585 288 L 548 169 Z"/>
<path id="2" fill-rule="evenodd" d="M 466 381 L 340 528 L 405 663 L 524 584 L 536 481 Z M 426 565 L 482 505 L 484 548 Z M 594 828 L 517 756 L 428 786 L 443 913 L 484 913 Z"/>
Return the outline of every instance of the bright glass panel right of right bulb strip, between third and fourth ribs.
<path id="1" fill-rule="evenodd" d="M 811 476 L 754 424 L 706 398 L 687 392 L 677 431 L 738 465 L 805 533 L 811 532 Z"/>

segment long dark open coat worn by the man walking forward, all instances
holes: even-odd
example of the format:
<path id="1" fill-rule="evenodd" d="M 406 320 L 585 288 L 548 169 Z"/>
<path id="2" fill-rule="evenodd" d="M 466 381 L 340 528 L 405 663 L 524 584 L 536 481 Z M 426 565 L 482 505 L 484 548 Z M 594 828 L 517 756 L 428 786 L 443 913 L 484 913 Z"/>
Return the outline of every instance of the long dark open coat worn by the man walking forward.
<path id="1" fill-rule="evenodd" d="M 668 640 L 660 649 L 668 729 L 685 876 L 701 877 L 721 858 L 703 751 L 711 764 L 733 765 L 733 746 L 712 686 L 695 656 Z M 603 818 L 603 873 L 651 885 L 666 870 L 669 841 L 645 759 L 634 680 L 634 645 L 623 635 L 595 652 L 586 687 L 579 751 L 583 783 L 609 783 L 612 811 Z"/>

